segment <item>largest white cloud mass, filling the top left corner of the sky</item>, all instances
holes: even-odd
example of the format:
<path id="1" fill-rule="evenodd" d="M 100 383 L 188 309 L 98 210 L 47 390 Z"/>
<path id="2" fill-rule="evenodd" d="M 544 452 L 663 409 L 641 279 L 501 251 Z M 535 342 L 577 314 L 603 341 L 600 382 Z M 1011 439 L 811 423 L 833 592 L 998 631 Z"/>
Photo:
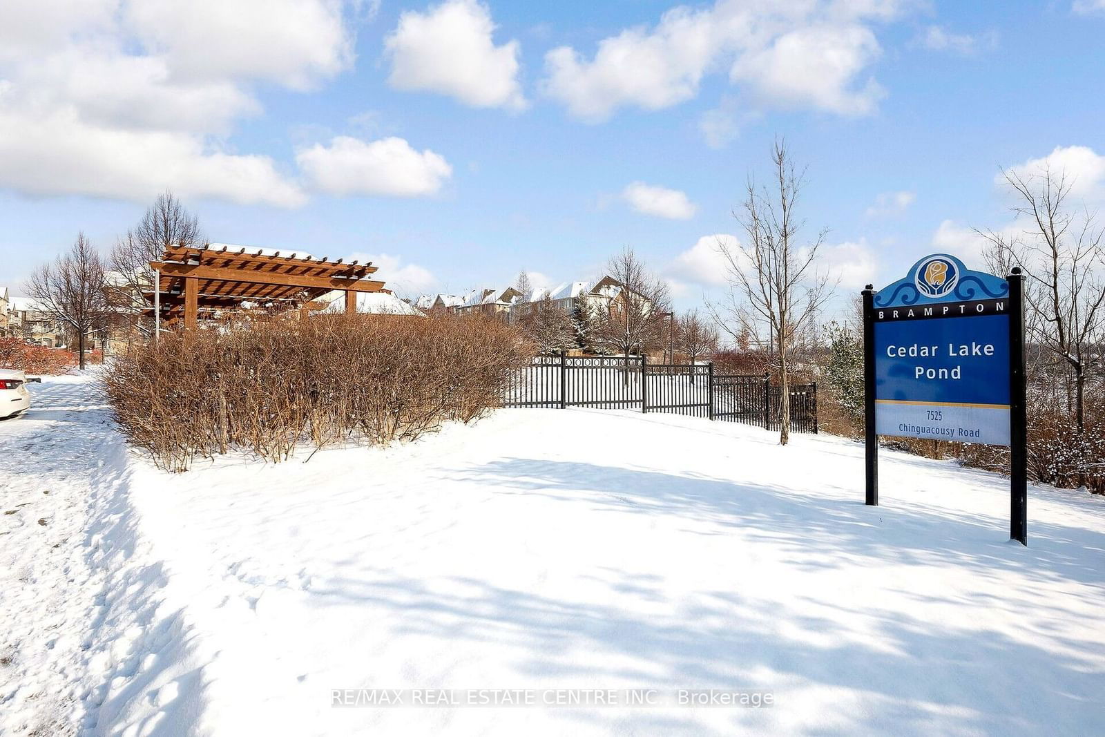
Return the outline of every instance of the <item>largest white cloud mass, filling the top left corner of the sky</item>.
<path id="1" fill-rule="evenodd" d="M 27 10 L 33 6 L 33 10 Z M 0 3 L 0 186 L 33 194 L 295 207 L 272 158 L 224 143 L 264 80 L 351 62 L 340 0 Z"/>

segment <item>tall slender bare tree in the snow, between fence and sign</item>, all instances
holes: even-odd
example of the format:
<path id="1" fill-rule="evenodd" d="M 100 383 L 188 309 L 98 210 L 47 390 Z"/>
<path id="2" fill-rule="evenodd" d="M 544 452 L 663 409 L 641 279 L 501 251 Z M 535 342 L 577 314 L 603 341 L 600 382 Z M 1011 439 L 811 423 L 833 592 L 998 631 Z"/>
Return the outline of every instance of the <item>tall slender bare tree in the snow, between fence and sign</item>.
<path id="1" fill-rule="evenodd" d="M 796 171 L 786 140 L 771 149 L 770 188 L 757 187 L 749 177 L 745 201 L 734 212 L 747 240 L 736 246 L 718 241 L 728 293 L 720 305 L 707 303 L 717 324 L 735 340 L 754 336 L 775 354 L 780 387 L 779 443 L 790 440 L 790 375 L 796 336 L 832 294 L 828 275 L 818 272 L 818 252 L 825 232 L 808 243 L 798 242 L 804 225 L 794 209 L 806 186 L 806 173 Z"/>

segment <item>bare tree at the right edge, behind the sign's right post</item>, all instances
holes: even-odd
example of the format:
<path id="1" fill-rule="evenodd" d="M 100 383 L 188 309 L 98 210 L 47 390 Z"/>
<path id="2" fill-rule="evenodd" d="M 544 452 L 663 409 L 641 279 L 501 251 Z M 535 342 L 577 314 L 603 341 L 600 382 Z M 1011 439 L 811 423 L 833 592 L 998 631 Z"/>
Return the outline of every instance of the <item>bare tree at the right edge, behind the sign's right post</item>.
<path id="1" fill-rule="evenodd" d="M 1044 165 L 1032 172 L 1002 175 L 1017 197 L 1012 210 L 1028 228 L 1019 234 L 975 232 L 988 241 L 985 259 L 991 269 L 1008 273 L 1019 265 L 1028 275 L 1025 327 L 1053 362 L 1073 373 L 1067 403 L 1081 433 L 1087 373 L 1099 365 L 1105 337 L 1105 230 L 1097 227 L 1094 213 L 1077 213 L 1067 204 L 1074 181 L 1064 171 Z"/>

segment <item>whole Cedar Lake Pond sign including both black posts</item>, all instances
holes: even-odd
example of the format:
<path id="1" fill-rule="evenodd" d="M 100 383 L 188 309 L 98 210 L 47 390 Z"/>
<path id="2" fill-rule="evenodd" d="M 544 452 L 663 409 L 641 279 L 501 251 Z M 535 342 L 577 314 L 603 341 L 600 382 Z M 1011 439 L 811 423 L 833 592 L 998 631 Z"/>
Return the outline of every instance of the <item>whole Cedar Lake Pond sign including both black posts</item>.
<path id="1" fill-rule="evenodd" d="M 878 435 L 1006 445 L 1010 535 L 1028 545 L 1023 280 L 939 253 L 864 289 L 866 504 L 878 504 Z"/>

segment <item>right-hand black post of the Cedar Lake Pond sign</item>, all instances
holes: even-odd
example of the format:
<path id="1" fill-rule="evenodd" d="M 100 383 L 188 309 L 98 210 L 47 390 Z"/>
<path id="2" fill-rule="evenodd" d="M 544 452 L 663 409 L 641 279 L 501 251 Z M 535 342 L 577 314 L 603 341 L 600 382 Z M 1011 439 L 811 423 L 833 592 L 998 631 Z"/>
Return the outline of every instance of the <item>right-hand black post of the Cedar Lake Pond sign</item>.
<path id="1" fill-rule="evenodd" d="M 1024 275 L 1009 282 L 1009 537 L 1029 544 L 1028 408 L 1024 377 Z"/>

